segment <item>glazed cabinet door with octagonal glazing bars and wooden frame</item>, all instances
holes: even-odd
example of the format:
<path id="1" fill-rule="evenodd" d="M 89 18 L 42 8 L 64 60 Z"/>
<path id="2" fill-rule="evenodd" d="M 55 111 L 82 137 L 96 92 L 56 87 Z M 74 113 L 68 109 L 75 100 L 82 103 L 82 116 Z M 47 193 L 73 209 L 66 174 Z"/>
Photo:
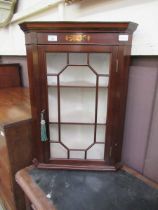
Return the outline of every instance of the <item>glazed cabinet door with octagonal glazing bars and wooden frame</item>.
<path id="1" fill-rule="evenodd" d="M 42 46 L 39 66 L 45 161 L 110 165 L 117 47 Z"/>

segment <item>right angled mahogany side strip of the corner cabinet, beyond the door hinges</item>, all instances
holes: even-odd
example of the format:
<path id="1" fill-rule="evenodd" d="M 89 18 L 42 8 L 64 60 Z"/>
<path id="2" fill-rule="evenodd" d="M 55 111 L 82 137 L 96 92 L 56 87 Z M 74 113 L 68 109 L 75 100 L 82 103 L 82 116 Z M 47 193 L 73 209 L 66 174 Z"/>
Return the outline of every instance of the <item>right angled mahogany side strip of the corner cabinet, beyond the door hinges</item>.
<path id="1" fill-rule="evenodd" d="M 116 97 L 119 100 L 116 139 L 113 141 L 115 162 L 121 161 L 123 132 L 124 132 L 124 119 L 126 110 L 126 98 L 128 89 L 128 73 L 130 64 L 130 51 L 131 46 L 120 46 L 118 50 L 118 90 Z"/>

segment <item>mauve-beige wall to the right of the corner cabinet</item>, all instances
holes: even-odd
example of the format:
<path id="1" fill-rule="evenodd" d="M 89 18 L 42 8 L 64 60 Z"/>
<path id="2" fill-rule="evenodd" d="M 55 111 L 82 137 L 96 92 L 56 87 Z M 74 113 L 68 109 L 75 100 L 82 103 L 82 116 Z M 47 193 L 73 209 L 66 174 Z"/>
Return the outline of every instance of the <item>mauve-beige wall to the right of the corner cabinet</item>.
<path id="1" fill-rule="evenodd" d="M 158 182 L 158 57 L 132 59 L 122 161 Z"/>

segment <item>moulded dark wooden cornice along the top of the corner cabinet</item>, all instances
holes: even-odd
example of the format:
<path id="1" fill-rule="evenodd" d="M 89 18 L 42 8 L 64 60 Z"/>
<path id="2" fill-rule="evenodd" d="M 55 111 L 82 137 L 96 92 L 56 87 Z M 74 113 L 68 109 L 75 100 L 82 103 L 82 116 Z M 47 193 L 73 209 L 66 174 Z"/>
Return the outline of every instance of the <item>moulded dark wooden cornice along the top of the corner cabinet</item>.
<path id="1" fill-rule="evenodd" d="M 24 32 L 126 32 L 133 33 L 138 24 L 134 22 L 24 22 L 20 28 Z"/>

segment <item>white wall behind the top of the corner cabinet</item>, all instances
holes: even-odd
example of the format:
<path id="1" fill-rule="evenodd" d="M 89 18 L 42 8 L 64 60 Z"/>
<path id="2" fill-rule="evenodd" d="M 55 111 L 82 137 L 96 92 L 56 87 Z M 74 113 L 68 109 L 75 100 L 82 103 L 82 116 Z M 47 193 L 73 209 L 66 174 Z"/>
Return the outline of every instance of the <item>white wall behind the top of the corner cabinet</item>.
<path id="1" fill-rule="evenodd" d="M 53 2 L 53 3 L 52 3 Z M 134 21 L 132 55 L 158 55 L 158 0 L 20 0 L 9 27 L 0 30 L 0 55 L 25 55 L 23 21 Z"/>

